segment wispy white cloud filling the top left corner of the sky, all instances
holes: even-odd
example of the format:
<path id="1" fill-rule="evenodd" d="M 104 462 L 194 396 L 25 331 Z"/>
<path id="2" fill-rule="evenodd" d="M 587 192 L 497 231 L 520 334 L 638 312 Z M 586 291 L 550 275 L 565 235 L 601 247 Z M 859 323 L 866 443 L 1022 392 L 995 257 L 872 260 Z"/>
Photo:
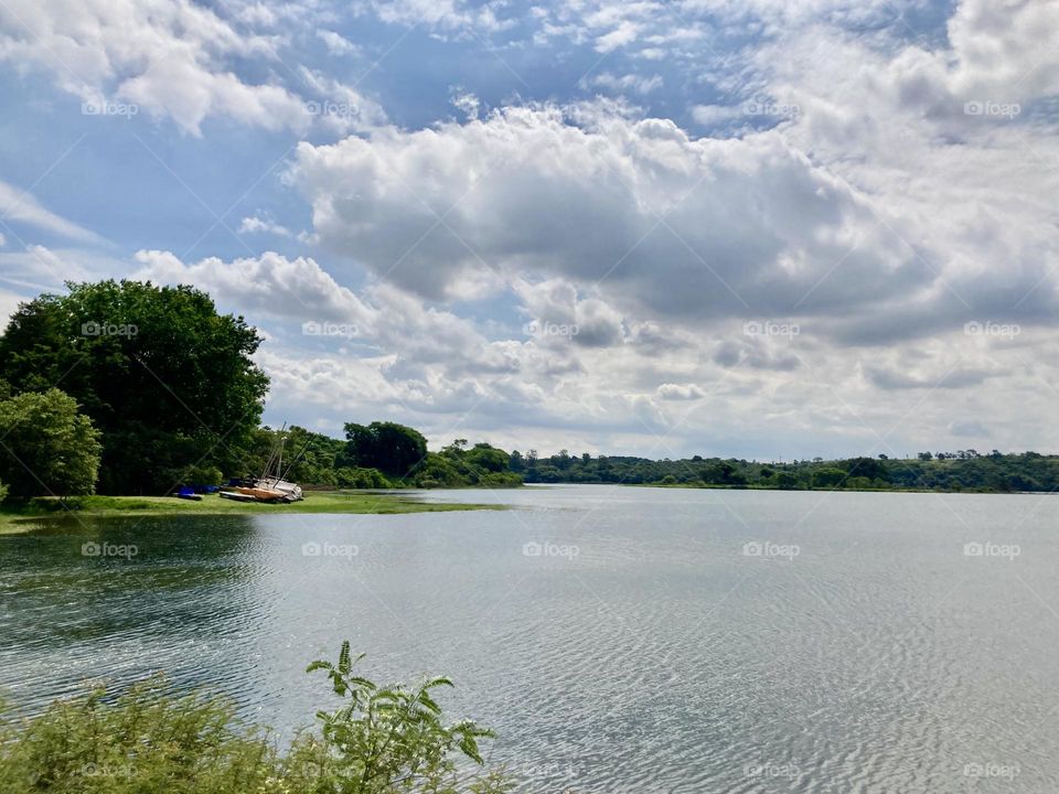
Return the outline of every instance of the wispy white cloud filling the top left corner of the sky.
<path id="1" fill-rule="evenodd" d="M 118 99 L 196 136 L 211 117 L 306 131 L 321 117 L 282 84 L 281 41 L 246 28 L 274 22 L 270 13 L 261 9 L 233 24 L 190 0 L 10 0 L 0 6 L 0 60 L 50 73 L 84 103 Z M 264 64 L 270 74 L 250 82 L 237 72 L 239 62 Z M 310 97 L 328 98 L 338 101 Z M 374 110 L 360 95 L 354 104 Z"/>

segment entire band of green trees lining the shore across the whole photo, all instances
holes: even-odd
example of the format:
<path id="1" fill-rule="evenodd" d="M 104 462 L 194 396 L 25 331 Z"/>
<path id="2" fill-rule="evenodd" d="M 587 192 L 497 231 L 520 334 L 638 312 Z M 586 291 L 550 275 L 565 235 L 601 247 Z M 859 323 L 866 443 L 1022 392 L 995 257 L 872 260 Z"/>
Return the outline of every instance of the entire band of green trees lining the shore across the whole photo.
<path id="1" fill-rule="evenodd" d="M 457 439 L 438 452 L 396 422 L 346 423 L 343 438 L 261 427 L 263 337 L 190 286 L 67 283 L 22 303 L 0 336 L 0 498 L 164 494 L 260 474 L 282 432 L 288 478 L 355 489 L 625 483 L 700 487 L 1053 491 L 1059 459 L 993 450 L 914 460 L 789 463 L 623 455 L 542 458 Z M 300 453 L 300 454 L 299 454 Z"/>

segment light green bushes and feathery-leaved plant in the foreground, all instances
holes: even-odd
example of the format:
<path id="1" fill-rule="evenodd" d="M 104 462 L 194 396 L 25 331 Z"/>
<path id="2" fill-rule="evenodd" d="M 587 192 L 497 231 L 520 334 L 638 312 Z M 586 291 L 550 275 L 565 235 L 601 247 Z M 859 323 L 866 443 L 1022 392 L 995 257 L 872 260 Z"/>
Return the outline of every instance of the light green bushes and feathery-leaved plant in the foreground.
<path id="1" fill-rule="evenodd" d="M 341 700 L 280 752 L 267 730 L 203 693 L 178 695 L 161 678 L 115 697 L 96 688 L 21 723 L 0 723 L 6 794 L 501 794 L 483 769 L 471 720 L 447 723 L 432 678 L 381 687 L 356 675 L 350 644 L 314 662 Z"/>

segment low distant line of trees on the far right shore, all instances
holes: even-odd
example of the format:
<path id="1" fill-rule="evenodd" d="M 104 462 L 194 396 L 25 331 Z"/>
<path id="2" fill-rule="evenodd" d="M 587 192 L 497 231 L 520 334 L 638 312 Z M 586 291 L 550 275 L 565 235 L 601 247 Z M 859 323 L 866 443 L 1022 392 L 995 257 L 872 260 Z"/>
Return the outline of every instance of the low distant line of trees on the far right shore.
<path id="1" fill-rule="evenodd" d="M 735 458 L 649 460 L 592 457 L 567 451 L 549 458 L 511 454 L 512 471 L 527 483 L 624 483 L 695 487 L 763 487 L 781 490 L 927 490 L 1015 492 L 1059 489 L 1059 457 L 1037 452 L 1003 454 L 993 450 L 920 452 L 914 460 L 879 455 L 825 461 L 761 463 Z"/>

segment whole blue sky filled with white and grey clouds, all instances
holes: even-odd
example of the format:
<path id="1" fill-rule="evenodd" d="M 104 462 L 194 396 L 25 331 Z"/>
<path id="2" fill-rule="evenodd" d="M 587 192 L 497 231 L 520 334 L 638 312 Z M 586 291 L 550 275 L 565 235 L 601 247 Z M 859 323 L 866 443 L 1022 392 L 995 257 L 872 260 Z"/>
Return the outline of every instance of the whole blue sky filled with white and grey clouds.
<path id="1" fill-rule="evenodd" d="M 266 421 L 1059 451 L 1059 0 L 3 0 L 0 316 L 192 283 Z"/>

